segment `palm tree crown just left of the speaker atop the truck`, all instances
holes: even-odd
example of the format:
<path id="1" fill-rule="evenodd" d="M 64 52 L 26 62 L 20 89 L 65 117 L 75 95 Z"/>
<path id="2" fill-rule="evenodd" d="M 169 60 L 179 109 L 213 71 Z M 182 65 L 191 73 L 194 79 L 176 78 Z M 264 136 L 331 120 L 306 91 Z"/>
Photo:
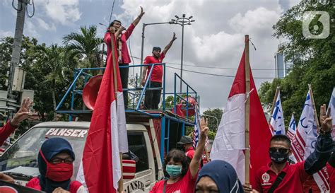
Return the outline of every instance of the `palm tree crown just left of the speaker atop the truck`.
<path id="1" fill-rule="evenodd" d="M 64 35 L 63 42 L 68 50 L 86 59 L 89 67 L 101 66 L 100 54 L 102 52 L 99 46 L 102 44 L 102 38 L 97 37 L 97 26 L 81 27 L 81 33 Z"/>

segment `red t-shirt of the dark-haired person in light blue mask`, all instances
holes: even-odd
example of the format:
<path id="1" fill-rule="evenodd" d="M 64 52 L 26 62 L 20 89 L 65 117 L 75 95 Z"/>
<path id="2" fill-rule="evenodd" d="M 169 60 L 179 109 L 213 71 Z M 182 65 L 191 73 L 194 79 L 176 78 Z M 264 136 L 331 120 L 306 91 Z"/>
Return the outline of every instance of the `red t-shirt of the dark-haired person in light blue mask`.
<path id="1" fill-rule="evenodd" d="M 196 184 L 196 175 L 192 177 L 191 171 L 187 170 L 186 175 L 182 177 L 182 180 L 175 182 L 171 185 L 166 185 L 165 192 L 166 193 L 194 193 L 195 184 Z M 149 193 L 161 193 L 164 189 L 165 180 L 160 180 L 156 182 L 153 188 Z"/>

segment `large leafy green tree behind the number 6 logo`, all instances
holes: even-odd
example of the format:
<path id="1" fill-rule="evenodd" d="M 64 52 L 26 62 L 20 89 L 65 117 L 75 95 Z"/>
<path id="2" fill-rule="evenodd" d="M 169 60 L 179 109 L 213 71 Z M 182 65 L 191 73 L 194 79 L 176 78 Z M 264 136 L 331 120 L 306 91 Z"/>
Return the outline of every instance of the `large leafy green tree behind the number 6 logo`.
<path id="1" fill-rule="evenodd" d="M 274 25 L 274 36 L 285 37 L 288 40 L 288 44 L 283 47 L 283 52 L 286 53 L 286 59 L 293 61 L 293 67 L 285 78 L 275 79 L 272 83 L 263 83 L 259 89 L 261 103 L 271 104 L 276 86 L 281 86 L 286 125 L 292 112 L 295 112 L 295 117 L 300 117 L 308 84 L 312 85 L 317 107 L 329 103 L 331 91 L 335 86 L 335 35 L 330 33 L 325 39 L 304 37 L 302 35 L 302 16 L 305 11 L 327 11 L 330 16 L 335 14 L 331 1 L 320 4 L 312 0 L 301 1 L 300 4 L 293 6 L 283 14 Z M 316 24 L 317 20 L 314 20 L 310 26 Z M 333 24 L 331 21 L 330 32 L 335 30 Z"/>

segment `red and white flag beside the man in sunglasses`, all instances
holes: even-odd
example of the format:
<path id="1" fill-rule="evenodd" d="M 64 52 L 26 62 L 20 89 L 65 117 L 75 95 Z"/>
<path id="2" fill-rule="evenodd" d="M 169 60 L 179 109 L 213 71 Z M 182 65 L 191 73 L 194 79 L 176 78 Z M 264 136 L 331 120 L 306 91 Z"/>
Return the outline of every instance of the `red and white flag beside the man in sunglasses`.
<path id="1" fill-rule="evenodd" d="M 254 177 L 261 166 L 270 162 L 269 145 L 271 131 L 266 121 L 254 79 L 250 71 L 250 113 L 249 113 L 249 144 L 250 144 L 250 182 L 255 185 Z M 211 149 L 212 160 L 228 161 L 244 184 L 245 181 L 245 52 L 242 54 L 233 86 L 228 96 L 220 126 Z"/>

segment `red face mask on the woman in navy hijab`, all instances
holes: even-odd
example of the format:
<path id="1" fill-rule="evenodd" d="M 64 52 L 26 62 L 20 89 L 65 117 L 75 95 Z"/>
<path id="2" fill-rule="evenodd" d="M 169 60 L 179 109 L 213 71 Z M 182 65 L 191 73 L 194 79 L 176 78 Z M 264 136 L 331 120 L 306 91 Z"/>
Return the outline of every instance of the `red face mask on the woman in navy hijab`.
<path id="1" fill-rule="evenodd" d="M 45 177 L 55 182 L 63 182 L 71 178 L 74 172 L 74 165 L 72 163 L 52 164 L 45 159 L 42 151 L 40 151 L 40 153 L 43 160 L 45 160 L 45 163 L 47 163 L 47 173 L 45 174 Z"/>

